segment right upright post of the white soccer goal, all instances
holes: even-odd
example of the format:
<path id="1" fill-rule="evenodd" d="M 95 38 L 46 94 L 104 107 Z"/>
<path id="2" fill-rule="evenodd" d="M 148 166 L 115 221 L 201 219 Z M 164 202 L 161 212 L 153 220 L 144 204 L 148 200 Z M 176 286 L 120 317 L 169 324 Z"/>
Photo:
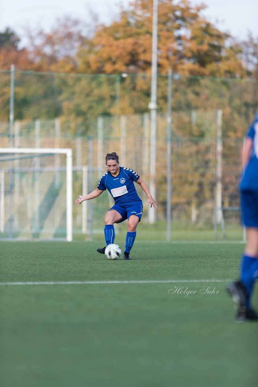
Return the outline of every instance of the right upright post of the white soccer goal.
<path id="1" fill-rule="evenodd" d="M 73 184 L 73 159 L 72 149 L 67 149 L 66 154 L 66 239 L 73 240 L 73 216 L 72 216 L 72 184 Z"/>

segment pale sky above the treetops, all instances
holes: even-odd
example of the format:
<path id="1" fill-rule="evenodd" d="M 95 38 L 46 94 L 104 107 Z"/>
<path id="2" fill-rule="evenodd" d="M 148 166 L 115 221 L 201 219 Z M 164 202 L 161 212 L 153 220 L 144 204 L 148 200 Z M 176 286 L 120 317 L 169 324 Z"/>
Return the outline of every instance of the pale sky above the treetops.
<path id="1" fill-rule="evenodd" d="M 94 6 L 92 5 L 94 4 Z M 50 31 L 58 17 L 90 22 L 91 10 L 101 23 L 108 24 L 119 12 L 119 4 L 128 6 L 130 0 L 0 0 L 0 31 L 11 27 L 26 45 L 25 29 L 41 27 Z M 192 5 L 205 3 L 203 15 L 220 31 L 237 39 L 246 38 L 248 31 L 258 37 L 257 0 L 190 0 Z"/>

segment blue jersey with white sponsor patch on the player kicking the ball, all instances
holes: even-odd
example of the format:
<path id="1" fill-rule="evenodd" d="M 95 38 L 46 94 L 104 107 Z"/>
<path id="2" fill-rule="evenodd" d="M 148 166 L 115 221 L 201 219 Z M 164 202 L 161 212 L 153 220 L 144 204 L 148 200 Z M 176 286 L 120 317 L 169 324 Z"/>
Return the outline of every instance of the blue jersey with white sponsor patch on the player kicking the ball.
<path id="1" fill-rule="evenodd" d="M 106 172 L 99 180 L 97 188 L 101 191 L 108 189 L 116 204 L 128 204 L 141 200 L 133 183 L 137 182 L 139 177 L 132 169 L 120 167 L 117 176 L 112 176 L 109 171 Z"/>

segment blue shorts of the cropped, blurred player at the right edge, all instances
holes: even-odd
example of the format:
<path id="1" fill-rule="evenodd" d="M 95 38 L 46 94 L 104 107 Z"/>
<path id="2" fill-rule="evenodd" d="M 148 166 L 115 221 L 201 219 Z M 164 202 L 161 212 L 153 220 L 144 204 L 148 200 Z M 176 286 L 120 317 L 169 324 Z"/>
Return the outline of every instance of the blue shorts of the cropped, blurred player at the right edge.
<path id="1" fill-rule="evenodd" d="M 258 191 L 241 192 L 241 210 L 244 226 L 258 228 Z"/>

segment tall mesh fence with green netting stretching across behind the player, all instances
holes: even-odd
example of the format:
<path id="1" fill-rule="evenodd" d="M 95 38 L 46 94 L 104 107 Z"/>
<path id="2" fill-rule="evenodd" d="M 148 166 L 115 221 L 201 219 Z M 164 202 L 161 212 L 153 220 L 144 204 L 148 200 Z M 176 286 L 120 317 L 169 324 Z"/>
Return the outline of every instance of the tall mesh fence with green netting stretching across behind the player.
<path id="1" fill-rule="evenodd" d="M 147 208 L 147 197 L 136 185 L 144 202 L 139 236 L 145 240 L 242 240 L 237 189 L 240 148 L 257 110 L 257 82 L 174 75 L 171 101 L 167 84 L 167 77 L 158 77 L 154 139 L 158 208 L 156 212 Z M 150 184 L 149 75 L 15 71 L 11 130 L 10 72 L 0 72 L 0 86 L 0 147 L 12 143 L 14 147 L 72 148 L 74 200 L 97 186 L 105 155 L 112 151 L 119 154 L 120 166 L 134 169 Z M 41 168 L 41 159 L 35 168 Z M 17 182 L 21 173 L 17 171 Z M 1 192 L 7 200 L 8 185 Z M 82 206 L 74 205 L 74 238 L 102 235 L 104 215 L 112 202 L 104 192 Z M 2 229 L 8 222 L 5 211 Z M 116 226 L 118 235 L 125 231 L 126 224 Z"/>

